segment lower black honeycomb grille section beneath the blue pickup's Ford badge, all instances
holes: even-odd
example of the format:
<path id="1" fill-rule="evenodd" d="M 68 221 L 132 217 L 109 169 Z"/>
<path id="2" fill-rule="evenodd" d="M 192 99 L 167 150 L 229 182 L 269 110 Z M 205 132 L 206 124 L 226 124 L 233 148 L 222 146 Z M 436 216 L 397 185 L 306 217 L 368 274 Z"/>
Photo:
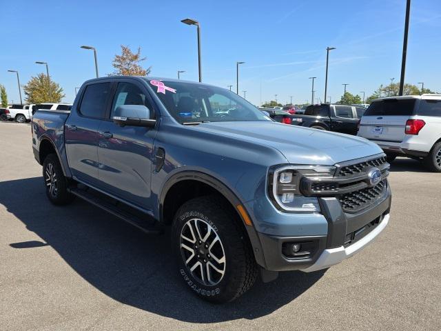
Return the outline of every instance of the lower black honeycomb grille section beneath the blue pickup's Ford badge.
<path id="1" fill-rule="evenodd" d="M 344 212 L 358 212 L 381 199 L 386 189 L 387 182 L 384 180 L 370 188 L 343 194 L 338 200 Z"/>

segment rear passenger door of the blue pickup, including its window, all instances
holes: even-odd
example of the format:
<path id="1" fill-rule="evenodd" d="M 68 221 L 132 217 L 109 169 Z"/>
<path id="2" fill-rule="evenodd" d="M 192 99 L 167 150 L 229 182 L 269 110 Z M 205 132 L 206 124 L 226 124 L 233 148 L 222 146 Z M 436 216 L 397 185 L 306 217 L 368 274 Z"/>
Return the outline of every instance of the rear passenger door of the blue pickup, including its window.
<path id="1" fill-rule="evenodd" d="M 68 163 L 77 179 L 97 185 L 98 128 L 107 112 L 112 83 L 90 83 L 85 86 L 81 102 L 65 123 L 64 138 Z"/>

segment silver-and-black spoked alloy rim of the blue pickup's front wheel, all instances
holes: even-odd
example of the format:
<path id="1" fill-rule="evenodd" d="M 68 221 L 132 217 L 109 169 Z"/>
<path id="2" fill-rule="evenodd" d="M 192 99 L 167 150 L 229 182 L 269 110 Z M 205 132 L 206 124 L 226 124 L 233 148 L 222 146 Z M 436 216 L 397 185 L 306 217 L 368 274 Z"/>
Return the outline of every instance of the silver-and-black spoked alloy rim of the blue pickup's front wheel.
<path id="1" fill-rule="evenodd" d="M 213 286 L 225 275 L 225 250 L 216 231 L 203 219 L 189 219 L 181 230 L 182 259 L 192 276 Z"/>

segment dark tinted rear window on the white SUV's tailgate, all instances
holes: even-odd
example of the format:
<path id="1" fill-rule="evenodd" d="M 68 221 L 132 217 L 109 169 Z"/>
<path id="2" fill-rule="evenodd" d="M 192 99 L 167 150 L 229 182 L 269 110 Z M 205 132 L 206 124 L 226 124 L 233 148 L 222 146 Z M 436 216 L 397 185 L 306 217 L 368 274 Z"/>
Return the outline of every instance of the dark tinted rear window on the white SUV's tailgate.
<path id="1" fill-rule="evenodd" d="M 365 116 L 411 116 L 416 99 L 384 99 L 374 101 Z"/>

